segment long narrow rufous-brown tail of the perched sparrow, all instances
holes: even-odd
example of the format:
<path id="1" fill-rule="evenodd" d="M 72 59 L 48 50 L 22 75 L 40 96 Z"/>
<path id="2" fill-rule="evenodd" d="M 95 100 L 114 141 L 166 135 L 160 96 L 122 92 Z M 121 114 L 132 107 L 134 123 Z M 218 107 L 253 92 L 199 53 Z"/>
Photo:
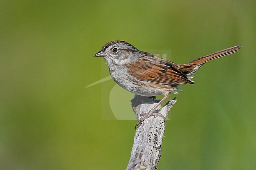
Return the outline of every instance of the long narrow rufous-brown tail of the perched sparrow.
<path id="1" fill-rule="evenodd" d="M 223 57 L 225 55 L 229 55 L 232 53 L 236 53 L 242 46 L 234 46 L 227 49 L 223 49 L 221 51 L 218 51 L 216 53 L 212 53 L 209 55 L 206 55 L 204 57 L 197 58 L 191 62 L 188 62 L 182 66 L 184 73 L 187 74 L 187 77 L 189 80 L 191 80 L 194 77 L 194 73 L 206 62 L 213 60 L 215 58 Z"/>

